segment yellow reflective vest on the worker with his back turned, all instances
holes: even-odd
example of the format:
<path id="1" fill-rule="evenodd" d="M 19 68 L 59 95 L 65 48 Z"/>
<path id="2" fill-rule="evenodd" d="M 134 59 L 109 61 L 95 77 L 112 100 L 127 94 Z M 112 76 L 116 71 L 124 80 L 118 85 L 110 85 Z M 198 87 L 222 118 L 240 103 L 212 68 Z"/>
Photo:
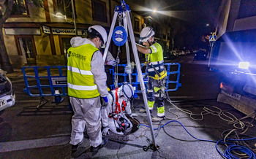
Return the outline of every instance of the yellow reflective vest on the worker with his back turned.
<path id="1" fill-rule="evenodd" d="M 68 95 L 76 98 L 95 98 L 99 96 L 94 76 L 91 73 L 91 58 L 98 49 L 91 44 L 70 47 L 67 50 Z"/>

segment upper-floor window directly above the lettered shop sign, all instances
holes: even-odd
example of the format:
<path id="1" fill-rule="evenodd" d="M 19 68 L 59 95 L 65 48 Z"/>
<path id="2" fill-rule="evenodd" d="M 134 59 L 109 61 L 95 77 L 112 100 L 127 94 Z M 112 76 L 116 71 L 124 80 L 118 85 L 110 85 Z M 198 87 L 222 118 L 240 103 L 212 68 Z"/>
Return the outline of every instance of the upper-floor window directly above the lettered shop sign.
<path id="1" fill-rule="evenodd" d="M 75 5 L 75 1 L 74 1 Z M 61 12 L 62 15 L 66 15 L 68 18 L 72 18 L 72 4 L 71 0 L 55 0 L 53 3 L 54 12 Z"/>

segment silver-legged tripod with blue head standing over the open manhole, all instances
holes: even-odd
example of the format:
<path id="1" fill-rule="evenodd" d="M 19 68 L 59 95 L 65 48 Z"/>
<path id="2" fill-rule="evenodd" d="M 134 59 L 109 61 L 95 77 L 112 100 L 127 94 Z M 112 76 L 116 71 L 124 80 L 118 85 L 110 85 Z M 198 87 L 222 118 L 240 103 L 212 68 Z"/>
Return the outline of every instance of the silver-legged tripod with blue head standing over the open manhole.
<path id="1" fill-rule="evenodd" d="M 151 131 L 152 141 L 153 141 L 152 146 L 154 146 L 154 150 L 157 150 L 158 147 L 157 147 L 156 139 L 155 139 L 155 136 L 154 136 L 153 125 L 152 125 L 152 122 L 151 122 L 151 115 L 150 115 L 149 108 L 148 108 L 146 88 L 145 88 L 145 85 L 144 85 L 144 82 L 143 82 L 143 75 L 142 75 L 142 71 L 141 71 L 141 67 L 140 67 L 140 59 L 138 57 L 138 51 L 137 51 L 137 47 L 136 47 L 136 43 L 135 43 L 135 36 L 134 36 L 133 30 L 132 30 L 132 22 L 131 22 L 131 18 L 129 16 L 129 12 L 130 12 L 129 6 L 127 4 L 125 4 L 124 0 L 121 0 L 121 6 L 116 6 L 116 8 L 115 8 L 115 13 L 113 15 L 113 20 L 112 20 L 112 23 L 111 23 L 111 26 L 110 26 L 110 32 L 108 34 L 108 41 L 107 41 L 105 51 L 104 51 L 104 55 L 103 55 L 103 61 L 105 61 L 107 53 L 108 53 L 108 48 L 110 46 L 111 37 L 113 35 L 113 28 L 116 24 L 116 18 L 117 18 L 118 15 L 121 14 L 121 15 L 123 15 L 125 31 L 127 31 L 127 33 L 129 34 L 130 39 L 131 39 L 131 43 L 132 43 L 132 52 L 133 52 L 133 55 L 135 57 L 136 68 L 137 68 L 137 71 L 138 71 L 138 79 L 139 79 L 139 82 L 140 82 L 140 89 L 142 90 L 142 93 L 143 93 L 143 101 L 144 101 L 146 113 L 147 113 L 147 116 L 148 116 L 148 123 L 149 123 L 150 131 Z M 127 27 L 129 29 L 129 32 L 127 30 Z M 127 52 L 127 66 L 129 66 L 130 65 L 130 57 L 129 57 L 128 41 L 126 41 L 125 46 L 126 46 L 126 52 Z M 129 83 L 130 84 L 132 84 L 131 73 L 129 73 Z"/>

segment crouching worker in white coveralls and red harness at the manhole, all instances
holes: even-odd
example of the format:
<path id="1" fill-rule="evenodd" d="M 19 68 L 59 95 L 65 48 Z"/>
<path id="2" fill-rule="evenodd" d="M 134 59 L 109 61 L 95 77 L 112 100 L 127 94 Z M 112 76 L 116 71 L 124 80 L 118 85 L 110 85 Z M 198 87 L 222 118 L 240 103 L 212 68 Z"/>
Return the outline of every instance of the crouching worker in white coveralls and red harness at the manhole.
<path id="1" fill-rule="evenodd" d="M 108 135 L 109 131 L 124 135 L 132 130 L 132 123 L 125 114 L 132 117 L 131 104 L 129 99 L 134 96 L 132 85 L 127 82 L 120 88 L 111 90 L 108 94 L 108 106 L 102 107 L 103 135 Z"/>

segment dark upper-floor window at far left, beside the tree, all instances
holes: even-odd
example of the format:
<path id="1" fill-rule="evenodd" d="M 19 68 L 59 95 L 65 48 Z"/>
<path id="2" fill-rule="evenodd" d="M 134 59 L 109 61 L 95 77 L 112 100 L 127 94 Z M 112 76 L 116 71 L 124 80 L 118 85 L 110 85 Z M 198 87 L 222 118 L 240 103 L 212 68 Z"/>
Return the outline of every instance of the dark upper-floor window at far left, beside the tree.
<path id="1" fill-rule="evenodd" d="M 25 0 L 14 0 L 11 15 L 29 15 L 29 9 Z"/>

